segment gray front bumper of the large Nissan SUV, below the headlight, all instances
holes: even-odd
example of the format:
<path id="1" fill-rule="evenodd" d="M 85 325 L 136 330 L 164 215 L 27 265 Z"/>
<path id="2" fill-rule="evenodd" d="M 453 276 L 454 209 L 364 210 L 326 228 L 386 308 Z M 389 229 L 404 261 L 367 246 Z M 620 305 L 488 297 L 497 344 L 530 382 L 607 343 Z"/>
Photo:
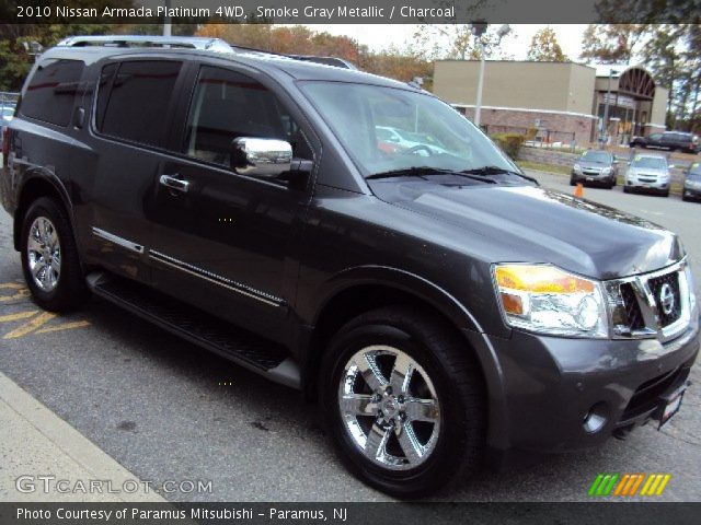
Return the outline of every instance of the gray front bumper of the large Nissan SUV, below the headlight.
<path id="1" fill-rule="evenodd" d="M 659 396 L 687 381 L 699 352 L 699 319 L 665 345 L 518 330 L 510 339 L 491 338 L 491 343 L 502 368 L 507 412 L 502 432 L 508 439 L 496 447 L 568 452 L 597 446 L 653 417 Z M 606 418 L 596 431 L 585 423 L 593 411 Z"/>

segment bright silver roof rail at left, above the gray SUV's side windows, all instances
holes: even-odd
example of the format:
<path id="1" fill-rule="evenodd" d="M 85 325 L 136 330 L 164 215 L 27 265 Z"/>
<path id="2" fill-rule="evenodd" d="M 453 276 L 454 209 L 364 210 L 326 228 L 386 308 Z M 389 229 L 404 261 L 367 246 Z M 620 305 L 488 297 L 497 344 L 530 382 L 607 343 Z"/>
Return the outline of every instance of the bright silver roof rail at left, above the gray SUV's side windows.
<path id="1" fill-rule="evenodd" d="M 67 47 L 179 47 L 204 49 L 219 52 L 234 52 L 233 48 L 221 38 L 204 36 L 152 36 L 152 35 L 104 35 L 104 36 L 69 36 L 58 43 Z"/>

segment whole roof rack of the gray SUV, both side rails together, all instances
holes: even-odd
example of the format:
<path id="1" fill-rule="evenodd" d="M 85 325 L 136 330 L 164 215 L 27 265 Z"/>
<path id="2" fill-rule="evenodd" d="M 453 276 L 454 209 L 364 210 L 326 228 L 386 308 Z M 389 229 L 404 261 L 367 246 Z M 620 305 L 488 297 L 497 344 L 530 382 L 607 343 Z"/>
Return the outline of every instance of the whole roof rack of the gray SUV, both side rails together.
<path id="1" fill-rule="evenodd" d="M 152 35 L 102 35 L 102 36 L 69 36 L 58 43 L 65 47 L 165 47 L 202 49 L 218 52 L 253 52 L 267 56 L 286 57 L 306 62 L 323 63 L 344 69 L 357 69 L 353 63 L 336 57 L 317 57 L 311 55 L 281 55 L 245 46 L 230 45 L 221 38 L 206 36 L 152 36 Z"/>

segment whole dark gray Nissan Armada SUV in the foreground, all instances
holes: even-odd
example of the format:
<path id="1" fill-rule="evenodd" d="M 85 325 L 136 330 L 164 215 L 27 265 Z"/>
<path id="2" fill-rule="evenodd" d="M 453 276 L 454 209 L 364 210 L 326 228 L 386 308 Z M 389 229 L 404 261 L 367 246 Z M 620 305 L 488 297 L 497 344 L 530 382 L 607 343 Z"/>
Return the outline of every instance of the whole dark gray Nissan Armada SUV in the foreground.
<path id="1" fill-rule="evenodd" d="M 253 51 L 59 46 L 3 153 L 42 307 L 92 291 L 302 389 L 348 468 L 392 494 L 662 423 L 698 352 L 675 234 L 541 188 L 412 85 Z"/>

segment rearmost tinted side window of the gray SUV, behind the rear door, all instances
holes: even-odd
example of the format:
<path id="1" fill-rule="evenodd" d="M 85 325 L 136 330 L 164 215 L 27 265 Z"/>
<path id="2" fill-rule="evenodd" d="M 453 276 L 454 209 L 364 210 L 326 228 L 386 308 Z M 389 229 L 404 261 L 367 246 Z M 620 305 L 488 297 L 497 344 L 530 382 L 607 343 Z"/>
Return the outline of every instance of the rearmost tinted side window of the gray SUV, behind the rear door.
<path id="1" fill-rule="evenodd" d="M 68 126 L 85 65 L 80 60 L 47 60 L 36 69 L 22 97 L 20 113 Z"/>

